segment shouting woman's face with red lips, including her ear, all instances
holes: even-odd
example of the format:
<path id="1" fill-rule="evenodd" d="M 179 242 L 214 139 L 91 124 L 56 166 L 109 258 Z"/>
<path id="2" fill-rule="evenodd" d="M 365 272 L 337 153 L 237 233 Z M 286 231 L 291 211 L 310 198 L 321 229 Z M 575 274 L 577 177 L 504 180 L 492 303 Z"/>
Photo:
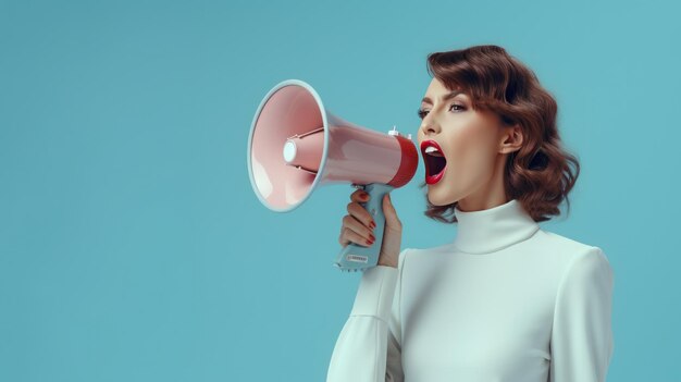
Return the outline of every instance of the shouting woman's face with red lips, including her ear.
<path id="1" fill-rule="evenodd" d="M 463 89 L 433 78 L 419 109 L 418 147 L 425 167 L 428 199 L 434 206 L 459 202 L 478 210 L 503 202 L 506 155 L 522 144 L 520 128 L 488 110 L 473 108 Z"/>

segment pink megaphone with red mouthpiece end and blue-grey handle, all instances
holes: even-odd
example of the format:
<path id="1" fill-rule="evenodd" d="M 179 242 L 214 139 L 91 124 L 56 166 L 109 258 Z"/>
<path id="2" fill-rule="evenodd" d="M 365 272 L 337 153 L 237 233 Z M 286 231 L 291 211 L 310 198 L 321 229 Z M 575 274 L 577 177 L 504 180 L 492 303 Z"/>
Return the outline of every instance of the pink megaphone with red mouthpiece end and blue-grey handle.
<path id="1" fill-rule="evenodd" d="M 288 212 L 320 185 L 351 184 L 370 195 L 375 242 L 347 245 L 334 261 L 342 271 L 375 267 L 383 243 L 383 196 L 413 177 L 419 155 L 411 136 L 379 133 L 329 112 L 306 82 L 286 79 L 262 99 L 248 136 L 248 174 L 260 201 Z"/>

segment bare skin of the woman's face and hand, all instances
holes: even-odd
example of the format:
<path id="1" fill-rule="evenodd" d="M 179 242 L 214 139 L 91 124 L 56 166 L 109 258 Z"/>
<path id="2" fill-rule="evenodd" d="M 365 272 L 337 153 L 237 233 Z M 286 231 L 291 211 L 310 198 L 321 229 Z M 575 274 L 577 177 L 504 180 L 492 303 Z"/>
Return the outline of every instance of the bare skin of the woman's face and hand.
<path id="1" fill-rule="evenodd" d="M 435 206 L 458 201 L 461 211 L 480 211 L 507 201 L 504 187 L 504 165 L 510 152 L 522 146 L 519 125 L 505 125 L 491 111 L 475 110 L 465 93 L 444 99 L 451 93 L 433 78 L 421 102 L 423 119 L 418 131 L 418 148 L 424 140 L 435 140 L 447 160 L 443 178 L 428 185 L 428 198 Z M 348 214 L 343 218 L 338 242 L 370 245 L 371 214 L 359 202 L 368 195 L 358 189 L 350 195 Z M 379 266 L 397 268 L 403 224 L 389 200 L 383 199 L 385 230 Z"/>

